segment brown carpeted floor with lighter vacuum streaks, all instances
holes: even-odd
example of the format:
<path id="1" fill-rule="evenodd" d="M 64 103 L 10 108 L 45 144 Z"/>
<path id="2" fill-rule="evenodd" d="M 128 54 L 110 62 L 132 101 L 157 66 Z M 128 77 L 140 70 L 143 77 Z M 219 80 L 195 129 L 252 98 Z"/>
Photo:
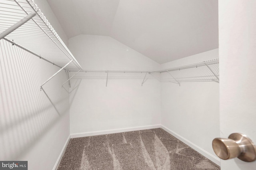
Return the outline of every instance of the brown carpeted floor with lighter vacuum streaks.
<path id="1" fill-rule="evenodd" d="M 219 170 L 161 128 L 72 138 L 58 170 Z"/>

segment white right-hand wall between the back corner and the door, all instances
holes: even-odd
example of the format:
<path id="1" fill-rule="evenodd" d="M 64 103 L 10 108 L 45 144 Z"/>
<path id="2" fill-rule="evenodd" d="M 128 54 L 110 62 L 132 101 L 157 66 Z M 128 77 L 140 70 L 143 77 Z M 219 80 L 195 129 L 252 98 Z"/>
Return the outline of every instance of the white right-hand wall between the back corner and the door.
<path id="1" fill-rule="evenodd" d="M 171 61 L 161 66 L 162 69 L 168 69 L 214 58 L 218 58 L 218 49 Z M 210 65 L 210 67 L 218 74 L 216 65 Z M 164 81 L 161 83 L 162 125 L 214 156 L 212 139 L 218 136 L 220 130 L 219 83 L 215 82 L 214 75 L 206 66 L 170 73 L 181 86 L 174 79 L 170 79 L 168 73 L 161 73 Z M 212 156 L 208 158 L 216 162 Z"/>

